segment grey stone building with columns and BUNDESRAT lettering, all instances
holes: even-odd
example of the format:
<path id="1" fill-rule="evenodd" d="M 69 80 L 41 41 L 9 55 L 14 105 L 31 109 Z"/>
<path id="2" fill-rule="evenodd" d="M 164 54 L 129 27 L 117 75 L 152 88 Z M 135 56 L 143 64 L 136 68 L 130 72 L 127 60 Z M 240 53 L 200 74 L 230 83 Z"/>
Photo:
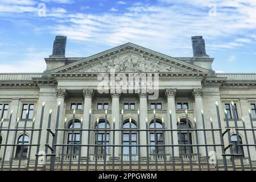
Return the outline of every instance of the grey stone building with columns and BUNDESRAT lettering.
<path id="1" fill-rule="evenodd" d="M 2 169 L 255 169 L 256 73 L 214 72 L 201 36 L 193 57 L 66 42 L 43 73 L 0 74 Z"/>

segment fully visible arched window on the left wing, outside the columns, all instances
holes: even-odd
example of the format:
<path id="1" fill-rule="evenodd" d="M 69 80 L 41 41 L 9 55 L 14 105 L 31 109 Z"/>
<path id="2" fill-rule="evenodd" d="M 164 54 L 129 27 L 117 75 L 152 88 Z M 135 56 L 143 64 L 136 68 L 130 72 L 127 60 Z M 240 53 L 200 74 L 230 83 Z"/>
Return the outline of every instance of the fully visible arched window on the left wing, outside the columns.
<path id="1" fill-rule="evenodd" d="M 24 138 L 24 139 L 23 139 Z M 23 143 L 22 143 L 23 140 Z M 30 142 L 30 138 L 28 137 L 28 135 L 21 135 L 18 138 L 18 144 L 20 144 L 20 146 L 16 147 L 16 155 L 15 158 L 19 158 L 20 154 L 22 158 L 27 158 L 27 150 L 28 150 L 28 146 L 21 146 L 22 144 L 28 144 Z"/>

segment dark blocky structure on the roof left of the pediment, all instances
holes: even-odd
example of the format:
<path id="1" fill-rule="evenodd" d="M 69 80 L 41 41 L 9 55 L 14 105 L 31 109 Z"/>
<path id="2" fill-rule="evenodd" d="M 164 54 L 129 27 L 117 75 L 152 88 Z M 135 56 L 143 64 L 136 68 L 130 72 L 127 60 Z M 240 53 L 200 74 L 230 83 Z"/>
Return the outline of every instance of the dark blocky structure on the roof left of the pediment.
<path id="1" fill-rule="evenodd" d="M 67 36 L 56 36 L 50 57 L 65 57 Z"/>

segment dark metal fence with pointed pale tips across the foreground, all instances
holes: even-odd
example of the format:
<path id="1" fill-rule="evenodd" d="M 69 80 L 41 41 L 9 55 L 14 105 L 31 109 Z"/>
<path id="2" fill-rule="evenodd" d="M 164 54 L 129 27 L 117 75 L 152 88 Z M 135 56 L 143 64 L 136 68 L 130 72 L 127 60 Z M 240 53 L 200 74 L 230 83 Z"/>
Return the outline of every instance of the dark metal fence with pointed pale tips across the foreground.
<path id="1" fill-rule="evenodd" d="M 233 115 L 236 116 L 236 109 L 232 103 Z M 152 127 L 149 127 L 149 123 L 146 121 L 139 121 L 139 111 L 137 126 L 133 127 L 131 119 L 125 121 L 123 119 L 123 111 L 121 112 L 121 127 L 115 128 L 115 122 L 113 121 L 113 127 L 108 127 L 108 113 L 105 111 L 105 119 L 103 119 L 101 126 L 100 121 L 97 119 L 96 126 L 92 121 L 92 113 L 89 112 L 89 121 L 81 121 L 80 125 L 76 125 L 76 112 L 73 112 L 73 119 L 71 126 L 65 126 L 60 128 L 60 104 L 57 107 L 55 129 L 51 129 L 52 112 L 48 115 L 47 130 L 42 130 L 44 105 L 41 110 L 40 124 L 35 129 L 35 122 L 32 122 L 32 127 L 27 127 L 28 112 L 26 119 L 24 120 L 24 127 L 19 127 L 19 119 L 15 121 L 12 119 L 12 112 L 10 114 L 9 121 L 3 121 L 0 125 L 0 135 L 5 132 L 5 140 L 1 142 L 1 154 L 0 160 L 1 170 L 253 170 L 256 169 L 254 161 L 251 159 L 251 150 L 255 148 L 255 129 L 253 126 L 253 119 L 249 110 L 250 121 L 238 121 L 236 117 L 232 119 L 234 127 L 230 127 L 230 119 L 228 119 L 228 113 L 225 110 L 225 121 L 221 121 L 219 106 L 216 102 L 217 121 L 210 119 L 210 127 L 205 127 L 204 113 L 201 113 L 201 119 L 203 121 L 203 127 L 199 128 L 196 125 L 189 127 L 188 112 L 185 111 L 185 121 L 183 123 L 177 123 L 177 129 L 174 129 L 174 123 L 172 123 L 172 113 L 170 111 L 170 121 L 163 121 L 162 125 L 159 125 L 159 120 L 156 119 L 156 113 L 154 110 L 154 121 Z M 82 120 L 82 119 L 81 119 Z M 82 125 L 85 122 L 89 122 L 88 129 L 83 129 Z M 165 123 L 168 122 L 170 129 L 165 127 Z M 213 127 L 213 122 L 217 122 L 217 128 Z M 225 126 L 222 127 L 221 123 L 225 122 Z M 238 127 L 238 122 L 242 122 L 242 127 Z M 250 128 L 246 127 L 245 122 L 250 122 Z M 66 121 L 65 121 L 66 123 Z M 126 127 L 123 127 L 123 124 Z M 241 123 L 240 123 L 241 124 Z M 12 129 L 11 126 L 15 128 Z M 67 125 L 67 123 L 66 123 Z M 142 125 L 146 129 L 141 129 Z M 181 127 L 181 125 L 183 127 Z M 6 126 L 6 127 L 3 127 Z M 102 127 L 103 126 L 103 127 Z M 214 125 L 216 126 L 216 125 Z M 238 138 L 236 143 L 232 143 L 232 136 L 230 130 L 236 131 L 236 136 L 243 134 L 245 136 L 245 142 L 241 142 Z M 23 136 L 26 133 L 30 133 L 30 139 L 26 141 L 24 137 L 17 143 L 18 131 L 23 132 Z M 46 141 L 42 140 L 42 132 L 47 132 Z M 32 143 L 33 137 L 36 133 L 38 137 L 35 143 Z M 132 134 L 136 134 L 135 139 Z M 146 134 L 142 142 L 141 135 Z M 190 139 L 190 133 L 195 136 L 195 139 Z M 200 137 L 203 136 L 204 144 L 200 143 Z M 121 142 L 115 143 L 115 134 L 121 135 Z M 124 135 L 127 134 L 127 135 Z M 179 137 L 179 143 L 174 142 L 175 134 Z M 184 135 L 182 135 L 184 134 Z M 202 135 L 203 134 L 203 135 Z M 112 136 L 110 138 L 110 135 Z M 252 135 L 253 139 L 251 143 L 247 138 L 247 135 Z M 13 136 L 11 138 L 10 136 Z M 94 142 L 91 137 L 95 136 Z M 125 142 L 123 136 L 129 137 Z M 185 136 L 184 138 L 182 138 Z M 182 143 L 181 141 L 187 140 Z M 86 137 L 86 141 L 82 142 L 82 139 Z M 166 138 L 170 137 L 170 142 L 166 142 Z M 100 141 L 99 141 L 100 138 Z M 224 140 L 228 138 L 228 143 Z M 111 140 L 112 141 L 111 141 Z M 210 140 L 211 141 L 210 141 Z M 13 140 L 13 143 L 10 143 Z M 52 141 L 52 142 L 51 142 Z M 57 142 L 62 141 L 62 142 Z M 40 151 L 40 144 L 42 147 L 44 143 L 45 150 Z M 144 144 L 143 144 L 144 143 Z M 115 158 L 115 149 L 119 148 L 121 155 L 119 158 Z M 175 149 L 179 149 L 179 156 L 175 157 Z M 99 150 L 100 149 L 100 150 Z M 17 150 L 19 153 L 17 155 Z M 146 150 L 146 158 L 141 158 L 142 152 Z M 203 158 L 200 151 L 205 150 L 207 156 Z M 31 156 L 32 151 L 35 156 Z M 185 151 L 185 152 L 184 152 Z M 255 152 L 253 151 L 253 152 Z M 183 153 L 184 152 L 184 153 Z M 145 153 L 145 152 L 144 152 Z M 7 155 L 8 154 L 8 155 Z M 86 154 L 84 156 L 84 154 Z M 245 158 L 246 155 L 246 158 Z M 9 156 L 7 158 L 7 156 Z"/>

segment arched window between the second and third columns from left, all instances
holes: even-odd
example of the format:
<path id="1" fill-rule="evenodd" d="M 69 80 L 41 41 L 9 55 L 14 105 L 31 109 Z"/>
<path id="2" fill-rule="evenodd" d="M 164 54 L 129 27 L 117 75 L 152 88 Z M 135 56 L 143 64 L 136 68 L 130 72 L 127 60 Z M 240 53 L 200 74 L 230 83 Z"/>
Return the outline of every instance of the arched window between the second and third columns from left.
<path id="1" fill-rule="evenodd" d="M 96 124 L 95 128 L 110 129 L 109 122 L 107 121 L 105 123 L 105 119 L 100 119 L 99 122 Z M 97 135 L 98 135 L 98 139 L 97 139 Z M 105 131 L 98 131 L 98 134 L 97 132 L 95 133 L 95 144 L 98 144 L 98 146 L 95 148 L 95 151 L 97 150 L 98 154 L 104 154 L 105 147 L 103 145 L 105 145 Z M 109 131 L 106 132 L 106 145 L 109 145 Z M 106 147 L 106 154 L 109 154 L 108 146 Z"/>

